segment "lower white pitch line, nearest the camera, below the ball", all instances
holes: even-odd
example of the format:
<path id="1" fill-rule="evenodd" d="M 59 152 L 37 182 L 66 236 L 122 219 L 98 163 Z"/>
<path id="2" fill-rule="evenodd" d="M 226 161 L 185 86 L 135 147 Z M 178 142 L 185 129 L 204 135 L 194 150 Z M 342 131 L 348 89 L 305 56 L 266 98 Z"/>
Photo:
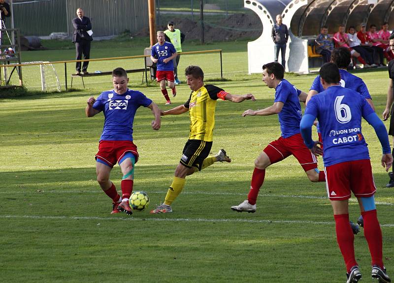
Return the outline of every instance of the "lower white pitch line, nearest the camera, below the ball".
<path id="1" fill-rule="evenodd" d="M 170 221 L 170 222 L 224 222 L 224 223 L 275 223 L 275 224 L 312 224 L 312 225 L 334 225 L 333 221 L 311 221 L 311 220 L 250 220 L 250 219 L 207 219 L 207 218 L 113 218 L 95 216 L 29 216 L 29 215 L 0 215 L 0 219 L 38 219 L 38 220 L 126 220 L 126 221 Z M 394 224 L 381 224 L 383 227 L 394 227 Z"/>

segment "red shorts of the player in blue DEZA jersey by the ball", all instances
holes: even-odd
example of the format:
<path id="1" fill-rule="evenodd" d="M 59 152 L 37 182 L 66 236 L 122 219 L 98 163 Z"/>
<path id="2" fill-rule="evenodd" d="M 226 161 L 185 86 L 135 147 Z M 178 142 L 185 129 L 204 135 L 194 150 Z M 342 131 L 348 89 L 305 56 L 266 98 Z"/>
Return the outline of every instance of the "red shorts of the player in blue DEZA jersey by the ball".
<path id="1" fill-rule="evenodd" d="M 135 156 L 135 163 L 137 163 L 137 147 L 132 141 L 101 140 L 99 142 L 99 152 L 95 158 L 96 160 L 101 159 L 112 168 L 127 152 L 131 152 Z"/>

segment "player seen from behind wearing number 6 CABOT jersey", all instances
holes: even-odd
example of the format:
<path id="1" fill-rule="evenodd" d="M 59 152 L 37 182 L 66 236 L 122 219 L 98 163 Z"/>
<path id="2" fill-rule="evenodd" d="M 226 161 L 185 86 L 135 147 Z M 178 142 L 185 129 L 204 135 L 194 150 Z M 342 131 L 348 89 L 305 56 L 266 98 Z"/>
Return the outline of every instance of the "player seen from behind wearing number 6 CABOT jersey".
<path id="1" fill-rule="evenodd" d="M 312 125 L 319 120 L 324 141 L 324 165 L 327 192 L 333 208 L 337 242 L 347 269 L 347 283 L 358 282 L 361 273 L 354 252 L 354 235 L 349 225 L 348 202 L 357 197 L 364 219 L 364 235 L 372 258 L 372 278 L 391 282 L 383 264 L 382 231 L 376 214 L 376 191 L 367 144 L 361 132 L 361 118 L 375 129 L 383 148 L 382 165 L 386 171 L 393 156 L 386 127 L 365 98 L 340 85 L 340 73 L 334 63 L 320 69 L 324 92 L 313 96 L 300 123 L 305 144 L 312 153 L 321 153 L 320 142 L 311 137 Z M 355 152 L 357 154 L 355 154 Z"/>

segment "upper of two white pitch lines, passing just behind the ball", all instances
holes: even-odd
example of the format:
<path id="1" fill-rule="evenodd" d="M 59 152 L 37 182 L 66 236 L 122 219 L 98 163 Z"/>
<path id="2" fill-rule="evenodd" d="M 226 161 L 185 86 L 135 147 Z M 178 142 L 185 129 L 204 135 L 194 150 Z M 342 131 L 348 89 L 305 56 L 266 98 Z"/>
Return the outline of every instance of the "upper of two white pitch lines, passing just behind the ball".
<path id="1" fill-rule="evenodd" d="M 134 189 L 137 190 L 137 189 Z M 97 190 L 42 190 L 42 191 L 32 191 L 30 193 L 101 193 L 100 189 Z M 14 193 L 29 193 L 27 191 L 0 191 L 0 194 L 14 194 Z M 165 191 L 150 191 L 149 193 L 165 193 Z M 247 192 L 240 193 L 240 192 L 205 192 L 205 191 L 183 191 L 182 194 L 206 194 L 206 195 L 240 195 L 240 196 L 247 196 Z M 284 198 L 304 198 L 304 199 L 327 199 L 327 196 L 314 196 L 314 195 L 286 195 L 286 194 L 267 194 L 267 193 L 260 193 L 259 196 L 265 197 L 284 197 Z M 356 198 L 350 198 L 349 202 L 357 202 Z M 389 205 L 393 206 L 394 204 L 391 202 L 384 202 L 384 201 L 375 201 L 376 204 L 379 205 Z"/>

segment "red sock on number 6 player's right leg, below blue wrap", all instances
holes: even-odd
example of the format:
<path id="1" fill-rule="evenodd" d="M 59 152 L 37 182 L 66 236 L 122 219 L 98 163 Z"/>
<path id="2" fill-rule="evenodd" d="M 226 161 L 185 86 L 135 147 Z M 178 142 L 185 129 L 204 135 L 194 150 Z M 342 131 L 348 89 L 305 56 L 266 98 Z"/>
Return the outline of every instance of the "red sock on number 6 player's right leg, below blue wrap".
<path id="1" fill-rule="evenodd" d="M 361 213 L 364 219 L 364 236 L 371 253 L 372 265 L 383 268 L 382 230 L 380 229 L 376 209 Z"/>

